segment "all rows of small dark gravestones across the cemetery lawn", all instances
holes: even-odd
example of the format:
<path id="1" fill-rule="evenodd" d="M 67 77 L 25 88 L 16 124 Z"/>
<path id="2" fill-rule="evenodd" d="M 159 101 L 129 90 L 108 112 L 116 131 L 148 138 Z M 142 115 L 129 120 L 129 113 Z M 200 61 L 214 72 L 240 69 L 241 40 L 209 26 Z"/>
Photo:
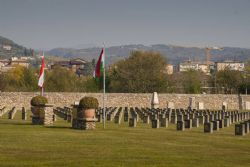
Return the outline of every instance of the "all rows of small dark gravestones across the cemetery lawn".
<path id="1" fill-rule="evenodd" d="M 120 124 L 122 118 L 124 122 L 129 121 L 130 127 L 136 127 L 137 122 L 142 120 L 143 123 L 149 124 L 152 122 L 152 128 L 168 127 L 168 123 L 174 123 L 177 125 L 177 130 L 183 131 L 185 129 L 191 129 L 192 127 L 199 127 L 199 124 L 204 124 L 205 133 L 213 133 L 220 128 L 228 127 L 232 123 L 240 124 L 235 125 L 235 135 L 245 135 L 249 133 L 249 112 L 225 112 L 225 111 L 209 111 L 209 110 L 184 110 L 184 109 L 150 109 L 150 108 L 122 108 L 122 107 L 109 107 L 106 108 L 106 116 L 108 121 L 115 120 L 115 123 Z M 17 110 L 13 107 L 9 113 L 8 118 L 13 119 Z M 6 113 L 6 108 L 0 109 L 0 116 Z M 72 108 L 57 107 L 53 109 L 53 114 L 48 117 L 53 117 L 53 121 L 56 121 L 56 115 L 67 120 L 72 121 Z M 96 112 L 98 121 L 103 119 L 103 110 L 98 109 Z M 22 108 L 22 119 L 27 119 L 27 112 L 25 108 Z M 53 124 L 52 121 L 45 122 L 45 124 Z M 72 124 L 73 125 L 73 124 Z"/>

